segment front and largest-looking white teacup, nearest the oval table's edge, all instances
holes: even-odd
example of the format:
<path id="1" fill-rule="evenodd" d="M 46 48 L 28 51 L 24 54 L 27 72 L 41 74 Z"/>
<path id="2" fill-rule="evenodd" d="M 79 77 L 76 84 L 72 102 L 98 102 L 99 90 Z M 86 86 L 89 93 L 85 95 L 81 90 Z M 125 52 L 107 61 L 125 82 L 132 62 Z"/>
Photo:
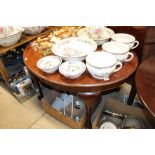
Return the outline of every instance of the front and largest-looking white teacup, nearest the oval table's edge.
<path id="1" fill-rule="evenodd" d="M 109 80 L 109 76 L 122 68 L 122 63 L 108 52 L 94 52 L 86 57 L 89 73 L 96 79 Z"/>

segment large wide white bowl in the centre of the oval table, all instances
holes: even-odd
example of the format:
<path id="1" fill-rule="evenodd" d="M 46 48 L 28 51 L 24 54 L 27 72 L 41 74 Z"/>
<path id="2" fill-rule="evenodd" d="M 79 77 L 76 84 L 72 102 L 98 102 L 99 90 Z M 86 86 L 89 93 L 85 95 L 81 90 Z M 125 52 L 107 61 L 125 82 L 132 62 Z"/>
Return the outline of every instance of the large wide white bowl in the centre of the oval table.
<path id="1" fill-rule="evenodd" d="M 94 52 L 97 44 L 91 39 L 80 37 L 70 37 L 57 41 L 52 46 L 52 52 L 60 56 L 63 60 L 80 60 L 83 61 L 85 57 Z"/>

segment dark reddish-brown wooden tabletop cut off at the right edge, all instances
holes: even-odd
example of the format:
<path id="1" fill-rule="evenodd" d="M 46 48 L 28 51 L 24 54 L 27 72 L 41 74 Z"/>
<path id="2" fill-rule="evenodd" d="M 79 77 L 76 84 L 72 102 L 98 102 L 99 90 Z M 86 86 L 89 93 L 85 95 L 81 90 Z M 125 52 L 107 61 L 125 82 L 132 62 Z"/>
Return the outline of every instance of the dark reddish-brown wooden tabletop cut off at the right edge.
<path id="1" fill-rule="evenodd" d="M 140 64 L 135 83 L 140 100 L 155 117 L 155 56 L 147 58 Z"/>

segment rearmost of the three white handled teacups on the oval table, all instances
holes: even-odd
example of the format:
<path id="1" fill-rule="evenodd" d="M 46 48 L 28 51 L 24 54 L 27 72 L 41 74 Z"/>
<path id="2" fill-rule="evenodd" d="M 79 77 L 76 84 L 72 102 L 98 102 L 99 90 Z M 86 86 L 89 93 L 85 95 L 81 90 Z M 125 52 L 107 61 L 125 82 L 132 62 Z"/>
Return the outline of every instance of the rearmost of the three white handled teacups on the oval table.
<path id="1" fill-rule="evenodd" d="M 112 41 L 121 42 L 129 46 L 130 49 L 135 49 L 139 45 L 139 41 L 130 34 L 116 33 L 112 36 Z"/>

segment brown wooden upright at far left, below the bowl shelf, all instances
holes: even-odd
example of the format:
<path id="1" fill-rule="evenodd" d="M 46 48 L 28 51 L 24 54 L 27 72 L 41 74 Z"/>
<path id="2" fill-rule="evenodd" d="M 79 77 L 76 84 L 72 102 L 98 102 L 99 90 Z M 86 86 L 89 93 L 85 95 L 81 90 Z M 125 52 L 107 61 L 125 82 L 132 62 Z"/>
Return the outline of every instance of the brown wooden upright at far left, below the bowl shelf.
<path id="1" fill-rule="evenodd" d="M 3 79 L 5 80 L 6 84 L 8 84 L 9 74 L 4 66 L 2 57 L 0 57 L 0 74 L 2 75 Z"/>

